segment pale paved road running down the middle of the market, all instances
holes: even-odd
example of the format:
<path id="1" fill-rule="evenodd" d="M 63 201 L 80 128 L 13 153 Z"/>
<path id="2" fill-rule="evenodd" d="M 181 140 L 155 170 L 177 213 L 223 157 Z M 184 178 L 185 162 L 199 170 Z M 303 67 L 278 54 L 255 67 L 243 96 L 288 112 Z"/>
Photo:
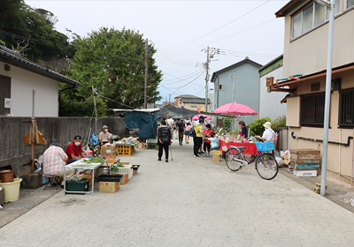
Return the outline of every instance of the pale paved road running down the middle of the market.
<path id="1" fill-rule="evenodd" d="M 116 193 L 56 194 L 0 228 L 0 246 L 353 246 L 354 214 L 288 177 L 172 147 L 168 163 L 121 157 L 141 168 Z"/>

